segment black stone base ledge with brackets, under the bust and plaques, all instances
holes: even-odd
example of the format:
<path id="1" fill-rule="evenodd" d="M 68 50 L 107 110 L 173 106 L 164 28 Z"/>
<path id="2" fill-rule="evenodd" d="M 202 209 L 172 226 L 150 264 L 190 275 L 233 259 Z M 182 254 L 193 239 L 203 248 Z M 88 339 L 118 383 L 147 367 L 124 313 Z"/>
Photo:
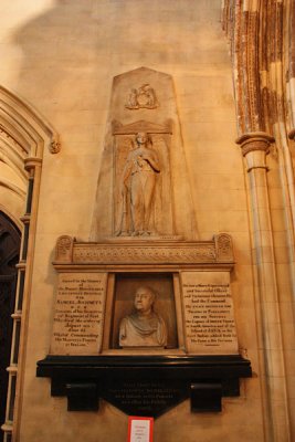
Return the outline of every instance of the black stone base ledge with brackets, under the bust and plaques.
<path id="1" fill-rule="evenodd" d="M 104 399 L 157 418 L 186 399 L 192 412 L 221 411 L 222 397 L 239 397 L 252 369 L 240 355 L 48 356 L 36 376 L 51 378 L 51 394 L 66 397 L 69 411 L 97 411 Z"/>

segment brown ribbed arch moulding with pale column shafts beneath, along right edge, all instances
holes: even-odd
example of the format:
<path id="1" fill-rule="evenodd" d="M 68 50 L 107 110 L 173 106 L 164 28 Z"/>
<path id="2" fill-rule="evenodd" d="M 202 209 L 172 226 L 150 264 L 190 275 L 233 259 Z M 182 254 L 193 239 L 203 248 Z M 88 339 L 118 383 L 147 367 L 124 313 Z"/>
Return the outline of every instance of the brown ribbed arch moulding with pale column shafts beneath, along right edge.
<path id="1" fill-rule="evenodd" d="M 289 12 L 291 14 L 287 14 Z M 256 276 L 256 322 L 260 334 L 260 368 L 264 394 L 265 441 L 292 441 L 289 421 L 292 386 L 286 372 L 286 349 L 275 260 L 274 230 L 268 194 L 267 162 L 271 144 L 276 140 L 276 159 L 285 235 L 288 244 L 288 272 L 295 295 L 295 197 L 294 171 L 287 143 L 285 106 L 284 39 L 289 44 L 289 76 L 294 73 L 295 0 L 224 0 L 223 29 L 231 44 L 238 117 L 238 144 L 242 147 L 249 177 L 252 212 L 253 269 Z M 284 12 L 287 11 L 287 12 Z M 289 19 L 291 17 L 291 19 Z M 286 29 L 288 27 L 288 33 Z M 293 75 L 294 76 L 294 75 Z M 295 78 L 293 78 L 295 80 Z M 295 108 L 295 83 L 289 80 L 289 96 Z M 295 90 L 295 87 L 294 87 Z M 293 96 L 293 98 L 292 98 Z M 292 106 L 291 106 L 292 107 Z M 291 113 L 292 114 L 292 113 Z M 294 119 L 293 119 L 294 120 Z M 267 133 L 266 133 L 267 131 Z M 294 136 L 289 133 L 289 136 Z M 278 400 L 278 398 L 281 400 Z"/>

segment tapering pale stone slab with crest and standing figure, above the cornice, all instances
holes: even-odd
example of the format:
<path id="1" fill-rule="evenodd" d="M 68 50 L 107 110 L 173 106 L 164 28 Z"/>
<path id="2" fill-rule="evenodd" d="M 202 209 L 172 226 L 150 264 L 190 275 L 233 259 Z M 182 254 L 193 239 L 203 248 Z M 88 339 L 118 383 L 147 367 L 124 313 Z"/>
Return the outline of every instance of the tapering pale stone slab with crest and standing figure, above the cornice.
<path id="1" fill-rule="evenodd" d="M 197 238 L 175 88 L 139 67 L 113 82 L 91 239 L 168 236 Z"/>

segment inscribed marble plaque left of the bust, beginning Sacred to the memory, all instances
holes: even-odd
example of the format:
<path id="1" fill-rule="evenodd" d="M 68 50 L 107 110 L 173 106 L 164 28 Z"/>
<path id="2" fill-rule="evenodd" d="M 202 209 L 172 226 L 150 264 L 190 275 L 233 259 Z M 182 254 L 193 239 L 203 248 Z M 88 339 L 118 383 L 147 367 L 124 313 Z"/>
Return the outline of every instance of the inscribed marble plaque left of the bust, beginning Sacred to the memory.
<path id="1" fill-rule="evenodd" d="M 97 355 L 102 346 L 106 273 L 61 273 L 52 355 Z"/>

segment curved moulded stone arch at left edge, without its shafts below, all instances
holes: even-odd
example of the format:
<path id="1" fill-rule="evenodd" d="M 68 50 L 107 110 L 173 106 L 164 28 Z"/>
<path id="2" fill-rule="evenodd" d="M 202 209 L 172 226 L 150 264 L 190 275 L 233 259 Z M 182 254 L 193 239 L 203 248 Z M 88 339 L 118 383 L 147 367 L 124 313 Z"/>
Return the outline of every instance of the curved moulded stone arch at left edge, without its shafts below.
<path id="1" fill-rule="evenodd" d="M 54 128 L 25 101 L 0 85 L 0 210 L 21 229 L 32 159 L 56 154 Z M 29 166 L 30 168 L 30 166 Z"/>

